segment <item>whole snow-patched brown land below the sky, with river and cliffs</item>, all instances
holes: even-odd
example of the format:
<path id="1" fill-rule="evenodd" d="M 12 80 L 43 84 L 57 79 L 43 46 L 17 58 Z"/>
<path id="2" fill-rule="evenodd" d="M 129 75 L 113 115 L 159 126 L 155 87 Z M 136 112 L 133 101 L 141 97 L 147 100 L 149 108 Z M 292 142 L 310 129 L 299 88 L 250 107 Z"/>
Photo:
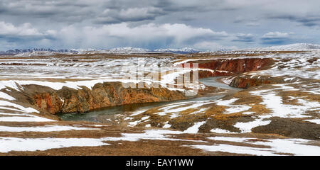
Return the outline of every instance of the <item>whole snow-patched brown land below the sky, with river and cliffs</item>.
<path id="1" fill-rule="evenodd" d="M 320 155 L 320 45 L 0 54 L 0 155 Z"/>

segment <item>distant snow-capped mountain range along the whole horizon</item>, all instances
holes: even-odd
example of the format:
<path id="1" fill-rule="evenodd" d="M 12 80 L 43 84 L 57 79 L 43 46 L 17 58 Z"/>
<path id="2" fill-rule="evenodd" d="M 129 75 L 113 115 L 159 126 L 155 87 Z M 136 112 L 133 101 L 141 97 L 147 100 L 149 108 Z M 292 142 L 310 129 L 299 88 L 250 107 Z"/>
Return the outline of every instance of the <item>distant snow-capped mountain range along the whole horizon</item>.
<path id="1" fill-rule="evenodd" d="M 271 47 L 256 47 L 256 48 L 247 48 L 243 50 L 265 50 L 265 51 L 303 51 L 303 50 L 320 50 L 320 45 L 316 44 L 307 44 L 307 43 L 297 43 L 291 45 L 277 45 Z M 66 54 L 88 54 L 88 53 L 118 53 L 118 54 L 134 54 L 134 53 L 159 53 L 159 52 L 168 52 L 174 54 L 190 54 L 197 52 L 210 52 L 210 51 L 201 51 L 196 50 L 191 47 L 183 48 L 161 48 L 156 50 L 149 50 L 145 48 L 135 48 L 135 47 L 117 47 L 110 50 L 95 50 L 95 49 L 63 49 L 63 50 L 52 50 L 50 48 L 34 48 L 26 50 L 7 50 L 0 52 L 0 55 L 53 55 L 58 53 Z"/>

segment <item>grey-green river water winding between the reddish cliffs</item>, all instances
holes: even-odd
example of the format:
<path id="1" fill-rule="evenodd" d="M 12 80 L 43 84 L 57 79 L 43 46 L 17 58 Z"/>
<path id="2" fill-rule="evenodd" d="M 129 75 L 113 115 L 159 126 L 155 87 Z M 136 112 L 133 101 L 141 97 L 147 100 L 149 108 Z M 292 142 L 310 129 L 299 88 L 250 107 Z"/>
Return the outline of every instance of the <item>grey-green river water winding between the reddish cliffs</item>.
<path id="1" fill-rule="evenodd" d="M 228 89 L 233 91 L 240 91 L 238 88 L 230 87 L 226 84 L 220 83 L 217 79 L 222 77 L 208 77 L 205 79 L 200 79 L 199 81 L 206 86 L 215 86 L 220 89 Z M 198 98 L 190 98 L 187 101 L 214 101 L 222 98 L 223 95 L 215 95 L 215 96 L 205 96 L 205 97 L 198 97 Z M 105 123 L 105 120 L 110 119 L 114 120 L 114 115 L 130 115 L 133 112 L 137 111 L 146 111 L 150 108 L 155 108 L 159 106 L 165 106 L 170 103 L 178 103 L 181 101 L 168 101 L 168 102 L 152 102 L 152 103 L 132 103 L 122 106 L 110 106 L 107 108 L 101 108 L 99 110 L 90 111 L 87 113 L 64 113 L 58 114 L 58 116 L 62 120 L 70 120 L 70 121 L 90 121 L 90 122 L 98 122 L 98 123 Z"/>

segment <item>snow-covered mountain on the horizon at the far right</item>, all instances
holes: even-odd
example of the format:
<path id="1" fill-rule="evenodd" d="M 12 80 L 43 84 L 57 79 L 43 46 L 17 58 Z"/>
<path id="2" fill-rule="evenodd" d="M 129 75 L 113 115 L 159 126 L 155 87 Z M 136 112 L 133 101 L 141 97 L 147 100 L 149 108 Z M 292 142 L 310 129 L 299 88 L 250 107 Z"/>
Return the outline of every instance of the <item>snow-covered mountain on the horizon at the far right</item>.
<path id="1" fill-rule="evenodd" d="M 271 47 L 257 47 L 251 50 L 266 50 L 266 51 L 304 51 L 304 50 L 320 50 L 320 45 L 297 43 L 290 45 L 277 45 Z"/>

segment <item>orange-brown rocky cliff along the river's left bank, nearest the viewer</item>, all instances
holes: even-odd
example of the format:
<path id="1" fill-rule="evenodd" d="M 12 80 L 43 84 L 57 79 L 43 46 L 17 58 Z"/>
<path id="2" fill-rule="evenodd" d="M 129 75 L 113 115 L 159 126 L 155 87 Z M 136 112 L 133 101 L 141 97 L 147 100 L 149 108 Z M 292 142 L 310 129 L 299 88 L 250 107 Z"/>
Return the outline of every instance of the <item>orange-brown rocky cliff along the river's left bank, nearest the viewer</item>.
<path id="1" fill-rule="evenodd" d="M 58 91 L 46 86 L 26 85 L 16 93 L 19 101 L 36 106 L 41 111 L 55 113 L 83 113 L 107 106 L 129 103 L 174 101 L 188 98 L 181 91 L 164 88 L 124 88 L 120 82 L 95 84 L 92 89 L 63 87 Z"/>

